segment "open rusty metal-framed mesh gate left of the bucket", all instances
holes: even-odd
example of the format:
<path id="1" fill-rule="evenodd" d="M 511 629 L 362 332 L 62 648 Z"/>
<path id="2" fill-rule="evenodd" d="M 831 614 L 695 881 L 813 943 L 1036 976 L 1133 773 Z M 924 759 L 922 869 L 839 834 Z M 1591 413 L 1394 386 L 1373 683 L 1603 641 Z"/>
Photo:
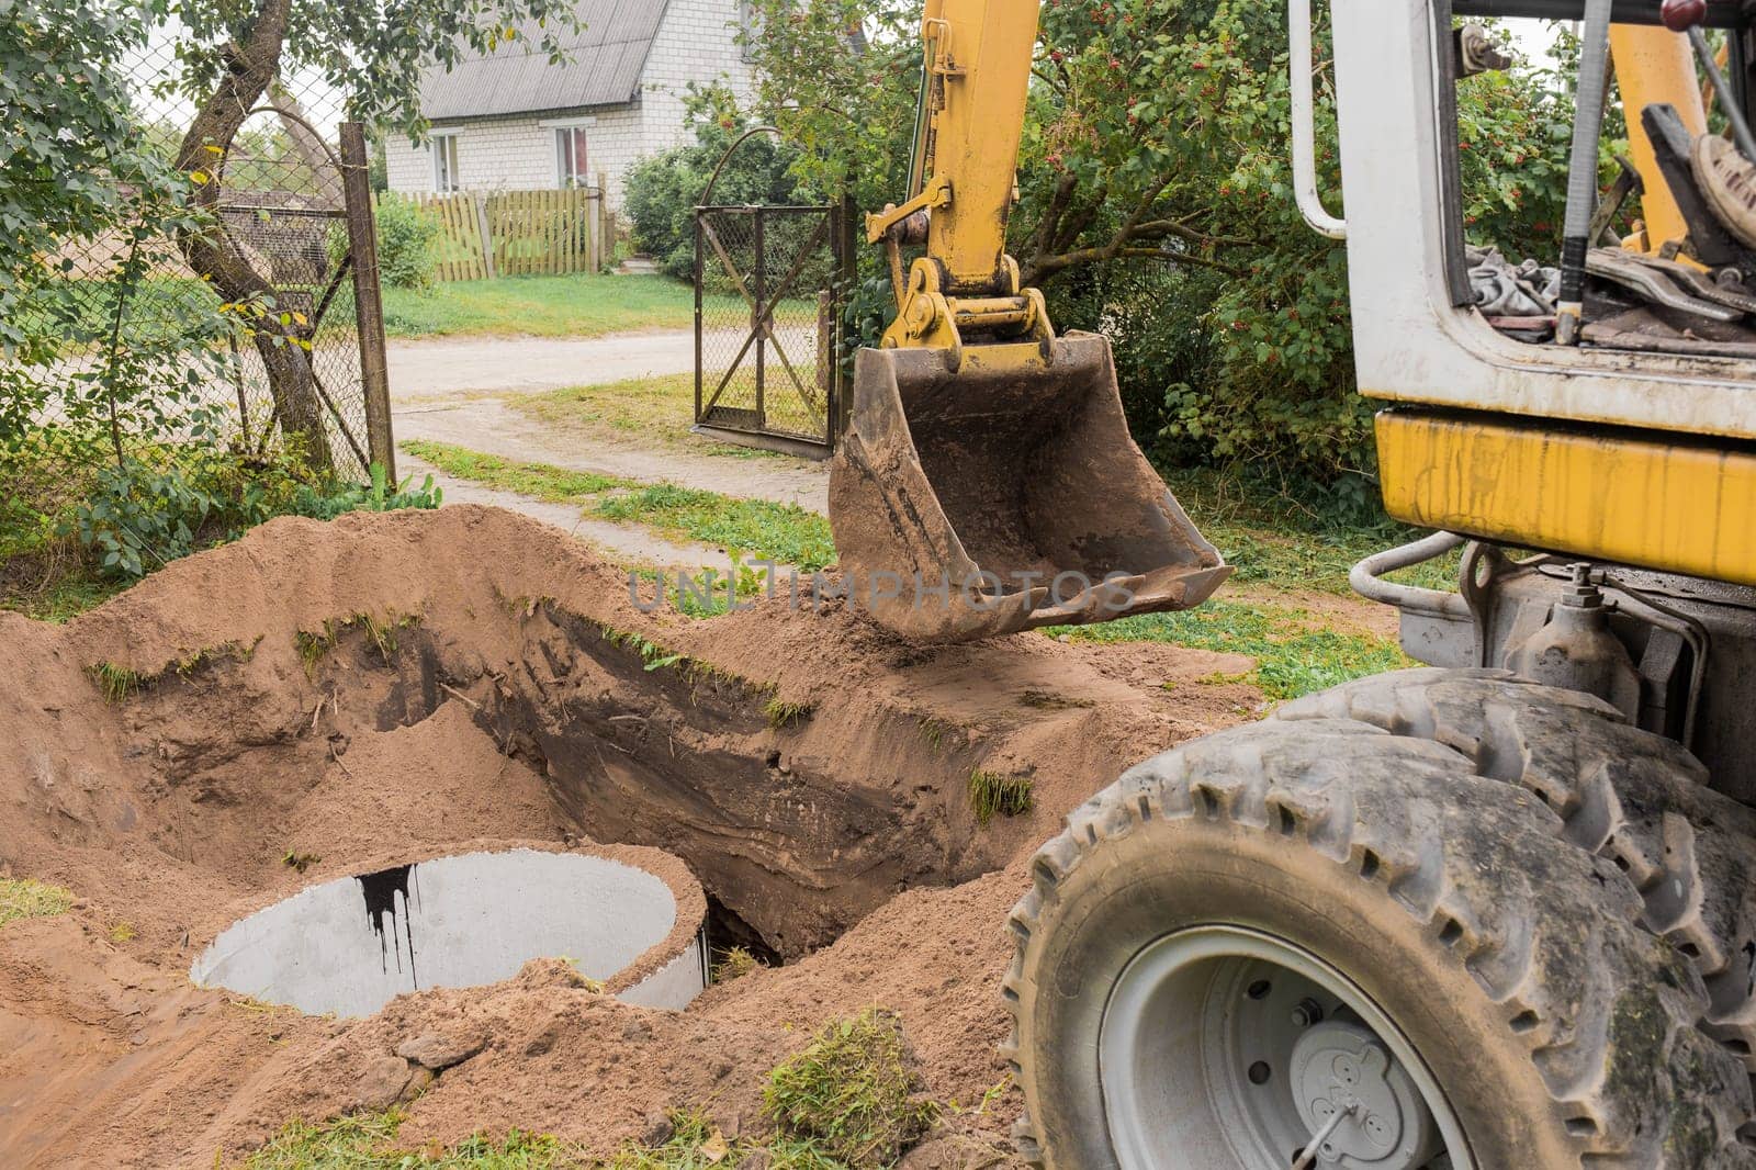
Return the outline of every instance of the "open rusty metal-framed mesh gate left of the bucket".
<path id="1" fill-rule="evenodd" d="M 811 459 L 843 411 L 848 216 L 695 209 L 695 430 Z"/>

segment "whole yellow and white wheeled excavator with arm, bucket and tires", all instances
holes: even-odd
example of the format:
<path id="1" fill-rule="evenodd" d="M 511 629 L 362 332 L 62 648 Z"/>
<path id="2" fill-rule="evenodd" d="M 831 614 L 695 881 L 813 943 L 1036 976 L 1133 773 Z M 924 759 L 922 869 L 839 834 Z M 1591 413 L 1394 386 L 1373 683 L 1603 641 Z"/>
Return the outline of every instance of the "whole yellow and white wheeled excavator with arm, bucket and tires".
<path id="1" fill-rule="evenodd" d="M 1466 234 L 1456 95 L 1507 65 L 1468 23 L 1496 18 L 1579 35 L 1552 264 Z M 1429 666 L 1069 813 L 1010 917 L 1018 1149 L 1756 1166 L 1756 5 L 1347 0 L 1328 32 L 1345 220 L 1310 0 L 1294 191 L 1347 241 L 1384 502 L 1436 529 L 1352 580 Z M 1175 610 L 1226 576 L 1129 441 L 1105 341 L 1057 336 L 1004 253 L 1034 35 L 1036 0 L 927 2 L 910 191 L 869 221 L 897 318 L 859 355 L 831 504 L 845 567 L 904 581 L 876 615 L 910 636 Z M 1612 79 L 1633 158 L 1605 191 Z M 1459 550 L 1454 590 L 1391 576 Z"/>

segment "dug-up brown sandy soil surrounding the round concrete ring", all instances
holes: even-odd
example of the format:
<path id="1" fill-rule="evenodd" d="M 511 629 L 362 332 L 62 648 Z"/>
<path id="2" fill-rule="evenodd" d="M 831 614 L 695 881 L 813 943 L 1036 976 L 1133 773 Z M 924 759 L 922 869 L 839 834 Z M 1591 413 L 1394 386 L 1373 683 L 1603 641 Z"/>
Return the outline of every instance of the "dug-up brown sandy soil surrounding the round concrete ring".
<path id="1" fill-rule="evenodd" d="M 0 873 L 81 896 L 0 928 L 0 1163 L 211 1166 L 414 1089 L 411 1140 L 609 1149 L 671 1107 L 760 1126 L 767 1068 L 871 1003 L 950 1128 L 1001 1142 L 1017 864 L 1129 762 L 1243 719 L 1247 687 L 1164 687 L 1226 669 L 1041 636 L 922 650 L 785 596 L 643 613 L 555 529 L 483 508 L 277 520 L 65 629 L 0 613 Z M 1033 808 L 982 824 L 978 773 Z M 683 1014 L 557 964 L 353 1022 L 188 984 L 248 910 L 485 838 L 666 849 L 715 931 L 787 966 Z M 479 1045 L 428 1084 L 397 1049 L 432 1035 Z"/>

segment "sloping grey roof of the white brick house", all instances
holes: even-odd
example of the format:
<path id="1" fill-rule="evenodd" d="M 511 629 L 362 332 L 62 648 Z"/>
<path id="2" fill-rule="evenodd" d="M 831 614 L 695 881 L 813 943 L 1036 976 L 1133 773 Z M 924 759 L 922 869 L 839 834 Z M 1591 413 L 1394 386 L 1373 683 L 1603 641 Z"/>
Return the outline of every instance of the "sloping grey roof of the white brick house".
<path id="1" fill-rule="evenodd" d="M 451 72 L 430 67 L 421 76 L 421 114 L 446 121 L 632 102 L 669 5 L 576 0 L 574 7 L 585 28 L 562 39 L 564 65 L 537 47 L 543 33 L 534 23 L 522 25 L 488 56 L 458 61 Z"/>

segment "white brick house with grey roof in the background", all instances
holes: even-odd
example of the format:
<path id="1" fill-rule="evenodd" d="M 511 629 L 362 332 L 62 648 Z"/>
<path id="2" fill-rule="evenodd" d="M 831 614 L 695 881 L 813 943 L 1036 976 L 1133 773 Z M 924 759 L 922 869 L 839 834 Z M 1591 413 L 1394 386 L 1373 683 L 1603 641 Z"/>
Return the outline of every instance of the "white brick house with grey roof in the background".
<path id="1" fill-rule="evenodd" d="M 685 139 L 688 84 L 752 86 L 738 44 L 745 0 L 578 0 L 585 32 L 550 65 L 522 35 L 497 53 L 428 70 L 432 135 L 385 144 L 393 191 L 583 186 L 608 176 L 609 202 L 636 158 Z"/>

